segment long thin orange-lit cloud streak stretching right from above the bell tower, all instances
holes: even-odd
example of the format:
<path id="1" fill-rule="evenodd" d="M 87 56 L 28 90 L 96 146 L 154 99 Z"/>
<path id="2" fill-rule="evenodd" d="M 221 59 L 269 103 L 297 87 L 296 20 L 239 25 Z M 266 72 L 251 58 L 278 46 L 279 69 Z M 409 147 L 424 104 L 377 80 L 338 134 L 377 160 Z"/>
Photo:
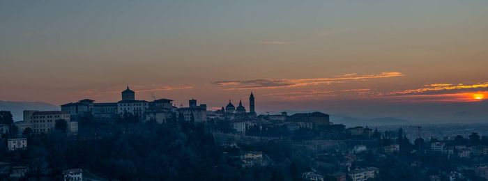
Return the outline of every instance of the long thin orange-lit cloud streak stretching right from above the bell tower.
<path id="1" fill-rule="evenodd" d="M 246 89 L 270 89 L 270 88 L 291 88 L 300 86 L 317 86 L 322 84 L 342 83 L 354 80 L 380 79 L 388 77 L 402 77 L 401 72 L 382 72 L 380 74 L 343 74 L 332 78 L 314 79 L 250 79 L 250 80 L 231 80 L 215 81 L 213 84 L 218 86 L 230 86 L 226 90 L 246 90 Z"/>

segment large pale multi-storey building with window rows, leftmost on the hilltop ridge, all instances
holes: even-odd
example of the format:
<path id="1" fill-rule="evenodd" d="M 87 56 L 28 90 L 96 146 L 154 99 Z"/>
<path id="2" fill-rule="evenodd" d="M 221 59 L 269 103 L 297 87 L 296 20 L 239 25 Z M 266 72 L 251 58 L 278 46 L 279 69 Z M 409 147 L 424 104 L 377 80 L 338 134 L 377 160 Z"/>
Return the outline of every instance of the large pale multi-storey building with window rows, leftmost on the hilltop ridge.
<path id="1" fill-rule="evenodd" d="M 35 134 L 53 132 L 56 120 L 66 121 L 66 132 L 69 134 L 78 133 L 78 122 L 71 121 L 70 113 L 65 111 L 24 111 L 24 123 L 22 132 L 27 127 L 32 129 Z"/>

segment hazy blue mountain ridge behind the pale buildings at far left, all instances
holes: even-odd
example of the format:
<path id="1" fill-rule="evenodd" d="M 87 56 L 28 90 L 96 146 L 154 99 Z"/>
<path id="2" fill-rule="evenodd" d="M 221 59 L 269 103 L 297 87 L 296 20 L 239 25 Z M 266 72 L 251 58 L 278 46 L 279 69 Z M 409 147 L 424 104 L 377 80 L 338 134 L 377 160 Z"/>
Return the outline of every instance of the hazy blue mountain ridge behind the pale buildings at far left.
<path id="1" fill-rule="evenodd" d="M 16 102 L 0 100 L 0 111 L 12 112 L 13 120 L 23 120 L 24 110 L 59 111 L 61 108 L 47 102 Z"/>

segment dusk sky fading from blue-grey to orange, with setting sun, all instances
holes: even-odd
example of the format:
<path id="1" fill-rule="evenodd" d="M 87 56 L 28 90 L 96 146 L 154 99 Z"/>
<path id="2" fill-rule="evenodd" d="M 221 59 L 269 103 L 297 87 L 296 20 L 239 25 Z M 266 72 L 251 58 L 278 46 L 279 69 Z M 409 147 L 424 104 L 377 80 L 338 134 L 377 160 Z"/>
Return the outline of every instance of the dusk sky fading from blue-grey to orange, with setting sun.
<path id="1" fill-rule="evenodd" d="M 0 1 L 0 100 L 488 121 L 488 1 Z M 247 108 L 248 109 L 248 108 Z"/>

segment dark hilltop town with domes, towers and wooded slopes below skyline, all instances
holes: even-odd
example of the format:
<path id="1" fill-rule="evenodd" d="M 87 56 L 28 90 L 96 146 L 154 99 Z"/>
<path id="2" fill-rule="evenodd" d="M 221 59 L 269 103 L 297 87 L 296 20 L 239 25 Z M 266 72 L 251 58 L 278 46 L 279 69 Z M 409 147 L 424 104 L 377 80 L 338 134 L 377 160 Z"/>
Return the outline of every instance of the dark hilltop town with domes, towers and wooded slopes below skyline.
<path id="1" fill-rule="evenodd" d="M 1 111 L 0 176 L 10 180 L 485 180 L 488 137 L 414 140 L 402 127 L 346 127 L 327 113 L 258 114 L 229 100 L 79 100 L 61 111 Z M 249 111 L 247 111 L 249 110 Z M 407 137 L 408 136 L 408 137 Z"/>

